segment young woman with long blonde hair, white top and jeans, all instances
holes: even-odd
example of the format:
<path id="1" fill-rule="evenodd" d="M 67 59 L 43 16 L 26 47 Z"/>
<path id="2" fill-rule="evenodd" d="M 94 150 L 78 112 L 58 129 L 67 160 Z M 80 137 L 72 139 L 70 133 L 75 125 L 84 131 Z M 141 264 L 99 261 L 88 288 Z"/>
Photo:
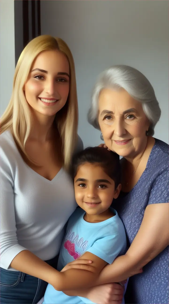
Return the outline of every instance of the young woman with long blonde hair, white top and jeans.
<path id="1" fill-rule="evenodd" d="M 71 51 L 39 36 L 19 58 L 1 119 L 1 304 L 37 303 L 43 280 L 54 283 L 64 225 L 76 208 L 66 171 L 83 149 L 77 126 Z"/>

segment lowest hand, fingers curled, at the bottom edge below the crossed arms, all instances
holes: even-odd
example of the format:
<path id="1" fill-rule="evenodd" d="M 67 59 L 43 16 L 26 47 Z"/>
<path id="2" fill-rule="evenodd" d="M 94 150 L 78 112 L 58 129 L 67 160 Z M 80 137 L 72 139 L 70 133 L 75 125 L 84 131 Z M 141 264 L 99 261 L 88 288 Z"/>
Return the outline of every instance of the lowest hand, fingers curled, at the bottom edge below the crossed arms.
<path id="1" fill-rule="evenodd" d="M 88 292 L 88 299 L 97 304 L 121 304 L 124 287 L 117 283 L 98 285 Z"/>

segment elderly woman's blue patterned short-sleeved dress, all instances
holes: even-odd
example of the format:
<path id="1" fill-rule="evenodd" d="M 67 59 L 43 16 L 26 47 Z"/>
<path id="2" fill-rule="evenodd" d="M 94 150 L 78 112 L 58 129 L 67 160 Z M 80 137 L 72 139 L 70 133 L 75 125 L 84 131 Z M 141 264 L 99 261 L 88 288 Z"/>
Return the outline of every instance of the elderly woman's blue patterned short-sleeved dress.
<path id="1" fill-rule="evenodd" d="M 133 242 L 144 211 L 150 204 L 169 202 L 168 145 L 155 139 L 147 167 L 129 193 L 113 200 L 126 229 L 128 245 Z M 168 247 L 143 267 L 143 273 L 129 279 L 126 303 L 169 303 Z"/>

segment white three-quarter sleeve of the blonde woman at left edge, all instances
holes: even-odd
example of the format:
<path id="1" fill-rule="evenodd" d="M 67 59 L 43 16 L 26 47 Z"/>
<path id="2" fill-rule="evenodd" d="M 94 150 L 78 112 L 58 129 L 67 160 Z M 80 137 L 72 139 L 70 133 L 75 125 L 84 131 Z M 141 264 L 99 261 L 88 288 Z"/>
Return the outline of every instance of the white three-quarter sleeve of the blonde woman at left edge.
<path id="1" fill-rule="evenodd" d="M 14 208 L 14 181 L 8 158 L 1 149 L 0 161 L 0 259 L 8 269 L 14 257 L 26 248 L 18 244 Z"/>

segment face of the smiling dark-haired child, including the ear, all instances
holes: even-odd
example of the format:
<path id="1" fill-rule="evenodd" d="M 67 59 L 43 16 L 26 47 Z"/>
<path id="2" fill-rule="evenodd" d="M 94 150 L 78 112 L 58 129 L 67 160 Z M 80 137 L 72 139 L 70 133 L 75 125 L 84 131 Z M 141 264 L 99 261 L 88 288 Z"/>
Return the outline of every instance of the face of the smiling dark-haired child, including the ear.
<path id="1" fill-rule="evenodd" d="M 74 178 L 75 198 L 86 213 L 97 215 L 107 210 L 120 190 L 121 185 L 115 190 L 114 181 L 99 164 L 85 163 L 78 167 Z"/>

